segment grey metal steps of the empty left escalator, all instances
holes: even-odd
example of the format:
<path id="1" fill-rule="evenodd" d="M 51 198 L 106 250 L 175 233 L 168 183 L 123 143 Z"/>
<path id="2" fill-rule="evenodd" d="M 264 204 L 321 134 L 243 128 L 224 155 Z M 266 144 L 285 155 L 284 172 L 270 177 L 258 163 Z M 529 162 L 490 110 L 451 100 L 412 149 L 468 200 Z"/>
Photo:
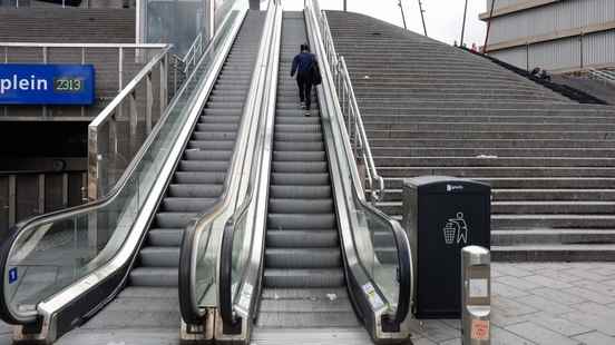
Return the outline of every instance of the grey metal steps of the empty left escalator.
<path id="1" fill-rule="evenodd" d="M 146 332 L 177 337 L 179 246 L 192 218 L 218 200 L 233 157 L 247 98 L 264 13 L 250 11 L 214 85 L 203 115 L 178 162 L 118 297 L 58 344 L 86 343 L 92 334 L 115 332 L 109 339 Z M 118 334 L 118 332 L 121 332 Z M 102 341 L 102 339 L 101 339 Z"/>

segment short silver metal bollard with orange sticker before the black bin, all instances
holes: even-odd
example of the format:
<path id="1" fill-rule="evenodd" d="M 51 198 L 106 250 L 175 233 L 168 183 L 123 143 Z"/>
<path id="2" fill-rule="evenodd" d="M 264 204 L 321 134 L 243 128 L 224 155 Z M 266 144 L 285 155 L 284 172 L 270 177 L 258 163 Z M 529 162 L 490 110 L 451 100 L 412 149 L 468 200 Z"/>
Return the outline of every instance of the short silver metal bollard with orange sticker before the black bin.
<path id="1" fill-rule="evenodd" d="M 461 333 L 463 345 L 491 343 L 491 255 L 479 246 L 461 249 Z"/>

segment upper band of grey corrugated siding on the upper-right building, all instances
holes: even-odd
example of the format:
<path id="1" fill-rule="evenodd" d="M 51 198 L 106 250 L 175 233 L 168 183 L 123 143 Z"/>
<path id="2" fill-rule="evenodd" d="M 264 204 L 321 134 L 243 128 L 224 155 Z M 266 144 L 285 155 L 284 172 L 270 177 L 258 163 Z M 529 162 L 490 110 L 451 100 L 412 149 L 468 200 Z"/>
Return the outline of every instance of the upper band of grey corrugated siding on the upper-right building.
<path id="1" fill-rule="evenodd" d="M 547 34 L 614 20 L 614 0 L 560 1 L 495 18 L 491 22 L 489 43 Z"/>

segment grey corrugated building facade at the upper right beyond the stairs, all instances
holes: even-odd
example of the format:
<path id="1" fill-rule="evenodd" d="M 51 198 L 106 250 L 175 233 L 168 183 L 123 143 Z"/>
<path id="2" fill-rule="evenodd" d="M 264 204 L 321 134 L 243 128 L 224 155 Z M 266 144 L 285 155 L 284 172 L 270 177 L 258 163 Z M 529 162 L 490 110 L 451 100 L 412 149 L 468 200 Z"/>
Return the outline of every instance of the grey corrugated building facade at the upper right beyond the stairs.
<path id="1" fill-rule="evenodd" d="M 486 1 L 488 22 L 494 1 Z M 487 51 L 528 70 L 615 68 L 615 1 L 496 0 Z"/>

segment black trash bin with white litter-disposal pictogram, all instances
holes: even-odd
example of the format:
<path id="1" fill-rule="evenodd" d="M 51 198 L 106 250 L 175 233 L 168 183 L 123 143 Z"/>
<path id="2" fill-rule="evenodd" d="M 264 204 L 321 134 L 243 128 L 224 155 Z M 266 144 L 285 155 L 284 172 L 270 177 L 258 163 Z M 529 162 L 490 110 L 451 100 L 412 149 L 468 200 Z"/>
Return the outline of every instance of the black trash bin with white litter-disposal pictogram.
<path id="1" fill-rule="evenodd" d="M 403 227 L 414 256 L 417 318 L 461 317 L 461 248 L 490 249 L 491 187 L 449 176 L 403 183 Z"/>

